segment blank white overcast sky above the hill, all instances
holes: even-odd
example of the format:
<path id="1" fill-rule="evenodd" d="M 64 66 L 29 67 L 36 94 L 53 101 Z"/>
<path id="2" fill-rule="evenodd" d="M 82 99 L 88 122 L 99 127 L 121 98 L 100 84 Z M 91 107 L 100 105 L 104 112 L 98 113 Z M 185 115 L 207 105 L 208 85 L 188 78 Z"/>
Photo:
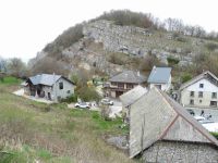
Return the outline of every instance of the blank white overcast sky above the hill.
<path id="1" fill-rule="evenodd" d="M 217 7 L 217 0 L 0 0 L 0 55 L 27 61 L 70 26 L 117 9 L 218 30 Z"/>

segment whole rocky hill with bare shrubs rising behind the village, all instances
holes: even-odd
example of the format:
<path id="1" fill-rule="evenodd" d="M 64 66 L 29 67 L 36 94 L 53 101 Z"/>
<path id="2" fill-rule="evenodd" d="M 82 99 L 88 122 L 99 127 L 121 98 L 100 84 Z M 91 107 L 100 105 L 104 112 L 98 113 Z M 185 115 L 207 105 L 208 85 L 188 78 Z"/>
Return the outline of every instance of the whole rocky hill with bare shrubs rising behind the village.
<path id="1" fill-rule="evenodd" d="M 183 30 L 167 30 L 161 22 L 154 20 L 149 14 L 131 11 L 105 13 L 65 30 L 29 66 L 33 73 L 49 70 L 48 73 L 69 75 L 85 70 L 90 76 L 110 76 L 126 68 L 146 73 L 154 64 L 173 66 L 177 72 L 181 68 L 189 72 L 191 66 L 196 73 L 206 62 L 202 57 L 217 55 L 218 42 L 203 35 L 201 28 L 193 34 L 186 26 Z M 197 60 L 202 63 L 196 63 Z"/>

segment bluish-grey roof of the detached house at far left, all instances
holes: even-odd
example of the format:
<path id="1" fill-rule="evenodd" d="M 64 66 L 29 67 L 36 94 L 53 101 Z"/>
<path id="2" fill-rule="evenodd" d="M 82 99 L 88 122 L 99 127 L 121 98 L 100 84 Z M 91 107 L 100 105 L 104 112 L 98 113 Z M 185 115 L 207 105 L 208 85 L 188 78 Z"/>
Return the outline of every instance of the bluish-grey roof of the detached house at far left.
<path id="1" fill-rule="evenodd" d="M 73 84 L 68 78 L 61 76 L 61 75 L 55 75 L 55 74 L 40 74 L 36 76 L 29 77 L 27 80 L 31 80 L 33 85 L 46 85 L 46 86 L 52 86 L 57 80 L 60 78 L 64 78 L 69 83 Z"/>

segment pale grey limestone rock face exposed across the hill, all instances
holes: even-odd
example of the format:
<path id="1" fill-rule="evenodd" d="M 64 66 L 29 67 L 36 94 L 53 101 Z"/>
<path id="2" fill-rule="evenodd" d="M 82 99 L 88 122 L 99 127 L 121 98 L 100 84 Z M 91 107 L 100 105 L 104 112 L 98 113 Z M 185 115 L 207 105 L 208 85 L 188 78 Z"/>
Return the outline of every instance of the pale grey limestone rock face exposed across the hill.
<path id="1" fill-rule="evenodd" d="M 204 43 L 207 41 L 149 28 L 119 26 L 104 20 L 83 24 L 83 35 L 80 41 L 58 53 L 57 60 L 68 61 L 65 64 L 69 67 L 97 68 L 109 75 L 124 68 L 123 65 L 109 62 L 109 53 L 119 52 L 136 58 L 144 58 L 149 53 L 166 64 L 168 58 L 177 59 L 180 61 L 179 65 L 183 66 L 192 64 L 194 55 L 204 52 Z M 31 65 L 48 55 L 41 51 L 31 61 Z"/>

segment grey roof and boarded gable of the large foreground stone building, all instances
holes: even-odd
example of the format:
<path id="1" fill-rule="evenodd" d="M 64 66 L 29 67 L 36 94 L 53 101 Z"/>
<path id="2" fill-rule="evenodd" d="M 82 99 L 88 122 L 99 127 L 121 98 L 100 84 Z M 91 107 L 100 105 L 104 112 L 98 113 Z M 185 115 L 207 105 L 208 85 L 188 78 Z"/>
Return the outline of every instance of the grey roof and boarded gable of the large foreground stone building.
<path id="1" fill-rule="evenodd" d="M 185 109 L 157 88 L 130 108 L 130 156 L 158 140 L 210 143 L 216 140 Z"/>

